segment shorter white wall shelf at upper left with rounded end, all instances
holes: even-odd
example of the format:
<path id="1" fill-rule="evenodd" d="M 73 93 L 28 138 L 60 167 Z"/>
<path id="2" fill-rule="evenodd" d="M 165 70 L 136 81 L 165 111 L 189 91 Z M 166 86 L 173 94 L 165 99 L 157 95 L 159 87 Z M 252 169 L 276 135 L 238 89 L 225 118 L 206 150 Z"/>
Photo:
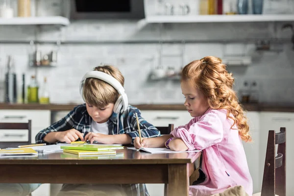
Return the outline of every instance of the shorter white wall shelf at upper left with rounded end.
<path id="1" fill-rule="evenodd" d="M 48 17 L 14 17 L 0 18 L 0 25 L 64 25 L 70 24 L 68 18 L 62 16 Z"/>

